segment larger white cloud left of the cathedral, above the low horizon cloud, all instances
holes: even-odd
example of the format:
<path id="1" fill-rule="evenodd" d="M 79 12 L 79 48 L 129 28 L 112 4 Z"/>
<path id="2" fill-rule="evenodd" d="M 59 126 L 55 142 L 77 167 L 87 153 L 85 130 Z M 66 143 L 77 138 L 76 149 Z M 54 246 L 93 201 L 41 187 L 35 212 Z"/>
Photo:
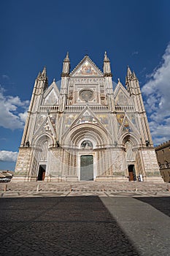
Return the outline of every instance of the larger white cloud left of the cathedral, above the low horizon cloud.
<path id="1" fill-rule="evenodd" d="M 21 101 L 18 96 L 5 96 L 4 89 L 0 86 L 0 127 L 23 129 L 28 104 L 28 100 Z"/>

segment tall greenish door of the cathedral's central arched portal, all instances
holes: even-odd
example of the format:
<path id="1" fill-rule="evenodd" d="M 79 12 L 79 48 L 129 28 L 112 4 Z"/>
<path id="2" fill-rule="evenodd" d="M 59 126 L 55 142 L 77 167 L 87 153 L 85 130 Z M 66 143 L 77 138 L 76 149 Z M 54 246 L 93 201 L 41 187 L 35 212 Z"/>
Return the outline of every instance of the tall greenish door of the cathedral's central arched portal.
<path id="1" fill-rule="evenodd" d="M 80 157 L 80 181 L 93 181 L 93 156 Z"/>

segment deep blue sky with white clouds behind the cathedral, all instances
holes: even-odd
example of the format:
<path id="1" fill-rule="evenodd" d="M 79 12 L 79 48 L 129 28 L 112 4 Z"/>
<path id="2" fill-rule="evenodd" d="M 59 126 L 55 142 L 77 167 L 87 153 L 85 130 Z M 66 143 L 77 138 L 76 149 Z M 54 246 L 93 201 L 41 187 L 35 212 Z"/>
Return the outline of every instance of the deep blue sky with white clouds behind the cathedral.
<path id="1" fill-rule="evenodd" d="M 14 170 L 36 75 L 61 79 L 88 53 L 102 69 L 104 51 L 113 80 L 134 69 L 153 142 L 170 140 L 170 1 L 2 0 L 0 8 L 0 170 Z"/>

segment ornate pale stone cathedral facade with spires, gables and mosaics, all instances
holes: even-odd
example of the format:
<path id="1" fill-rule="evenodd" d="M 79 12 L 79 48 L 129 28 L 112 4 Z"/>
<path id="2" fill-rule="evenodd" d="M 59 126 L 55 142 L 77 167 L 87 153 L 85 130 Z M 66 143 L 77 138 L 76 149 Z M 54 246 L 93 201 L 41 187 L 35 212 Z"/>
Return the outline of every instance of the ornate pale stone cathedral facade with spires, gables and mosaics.
<path id="1" fill-rule="evenodd" d="M 114 88 L 115 87 L 115 88 Z M 89 56 L 61 89 L 48 86 L 46 68 L 34 84 L 15 178 L 27 181 L 161 180 L 139 81 L 128 67 L 125 86 L 113 86 L 107 53 L 103 72 Z"/>

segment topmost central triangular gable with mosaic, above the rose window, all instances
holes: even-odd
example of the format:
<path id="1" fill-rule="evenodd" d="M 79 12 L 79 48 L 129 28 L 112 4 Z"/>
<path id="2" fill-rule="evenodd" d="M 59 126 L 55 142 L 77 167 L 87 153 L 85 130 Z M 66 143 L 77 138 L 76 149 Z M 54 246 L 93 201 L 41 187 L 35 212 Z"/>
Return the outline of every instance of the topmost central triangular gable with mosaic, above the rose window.
<path id="1" fill-rule="evenodd" d="M 82 61 L 73 69 L 70 76 L 102 76 L 102 72 L 96 64 L 88 57 L 85 56 Z"/>

